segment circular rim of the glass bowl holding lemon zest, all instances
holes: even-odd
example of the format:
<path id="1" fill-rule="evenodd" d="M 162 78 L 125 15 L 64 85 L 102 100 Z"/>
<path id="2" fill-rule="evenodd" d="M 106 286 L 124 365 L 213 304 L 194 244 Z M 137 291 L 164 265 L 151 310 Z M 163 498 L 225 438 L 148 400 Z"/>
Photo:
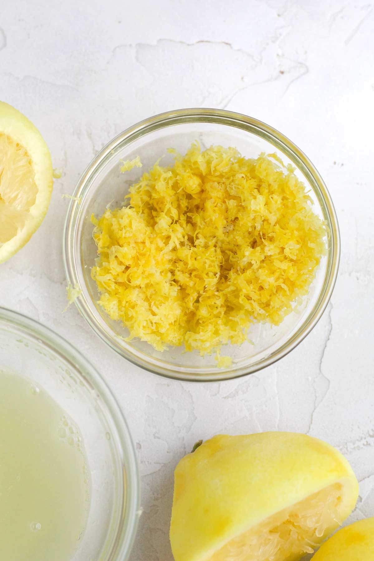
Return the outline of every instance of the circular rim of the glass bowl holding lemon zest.
<path id="1" fill-rule="evenodd" d="M 297 347 L 298 344 L 301 343 L 308 333 L 310 333 L 315 327 L 329 303 L 335 286 L 336 277 L 338 275 L 340 259 L 340 233 L 334 204 L 331 200 L 331 196 L 327 190 L 325 182 L 322 180 L 322 177 L 312 164 L 311 160 L 303 153 L 303 151 L 300 150 L 291 140 L 289 140 L 287 136 L 284 136 L 281 132 L 270 125 L 267 125 L 266 123 L 253 117 L 248 117 L 241 113 L 234 113 L 225 109 L 177 109 L 175 111 L 157 114 L 126 128 L 126 130 L 119 133 L 116 137 L 114 137 L 114 139 L 110 140 L 108 144 L 106 144 L 99 153 L 95 155 L 89 165 L 87 165 L 85 171 L 82 173 L 79 181 L 77 182 L 74 196 L 77 197 L 77 199 L 85 196 L 86 192 L 89 191 L 91 181 L 93 181 L 93 178 L 98 173 L 99 169 L 101 169 L 116 155 L 114 149 L 116 149 L 119 144 L 121 144 L 121 148 L 123 148 L 132 141 L 137 140 L 150 132 L 187 122 L 218 123 L 220 125 L 236 127 L 243 131 L 255 134 L 256 136 L 270 142 L 271 145 L 275 146 L 287 155 L 287 157 L 297 166 L 298 169 L 301 170 L 307 180 L 311 183 L 313 191 L 315 192 L 318 202 L 321 205 L 321 209 L 325 214 L 325 218 L 328 222 L 327 225 L 330 230 L 330 244 L 327 254 L 324 284 L 322 285 L 321 291 L 318 295 L 318 300 L 313 306 L 313 309 L 309 312 L 307 318 L 304 319 L 297 332 L 270 355 L 262 358 L 262 360 L 255 362 L 250 366 L 239 368 L 217 368 L 216 372 L 210 372 L 209 374 L 186 374 L 183 373 L 182 367 L 180 369 L 178 368 L 178 370 L 175 367 L 173 368 L 173 364 L 171 362 L 165 362 L 165 365 L 167 366 L 163 367 L 158 364 L 153 364 L 153 362 L 151 362 L 151 357 L 150 360 L 147 360 L 147 358 L 139 359 L 131 352 L 131 350 L 120 346 L 114 337 L 110 337 L 107 332 L 105 332 L 91 310 L 91 306 L 93 305 L 92 302 L 87 302 L 85 298 L 78 297 L 75 304 L 87 323 L 89 323 L 91 328 L 94 329 L 95 333 L 99 335 L 105 343 L 109 344 L 114 351 L 118 352 L 119 355 L 126 358 L 136 366 L 148 370 L 153 374 L 179 381 L 224 381 L 253 374 L 267 366 L 270 366 L 271 364 L 274 364 L 274 362 L 280 360 L 280 358 L 283 358 L 285 355 L 288 355 L 290 351 Z M 67 209 L 62 245 L 66 279 L 68 283 L 72 284 L 72 286 L 77 283 L 77 261 L 80 263 L 79 259 L 75 259 L 74 247 L 75 229 L 78 216 L 79 201 L 71 200 Z"/>

